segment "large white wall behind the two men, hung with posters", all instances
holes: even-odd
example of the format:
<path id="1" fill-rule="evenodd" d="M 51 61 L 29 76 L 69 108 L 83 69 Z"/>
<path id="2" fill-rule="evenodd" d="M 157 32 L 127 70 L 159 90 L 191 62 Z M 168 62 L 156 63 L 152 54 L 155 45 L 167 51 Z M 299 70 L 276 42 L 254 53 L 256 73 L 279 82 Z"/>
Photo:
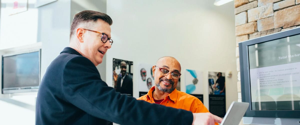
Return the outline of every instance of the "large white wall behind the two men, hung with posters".
<path id="1" fill-rule="evenodd" d="M 134 97 L 138 97 L 139 63 L 155 64 L 162 56 L 175 57 L 184 70 L 203 72 L 204 104 L 208 107 L 208 71 L 232 71 L 226 77 L 226 109 L 237 101 L 235 18 L 233 2 L 214 1 L 107 1 L 113 19 L 113 46 L 107 52 L 107 84 L 112 86 L 112 59 L 134 62 Z"/>

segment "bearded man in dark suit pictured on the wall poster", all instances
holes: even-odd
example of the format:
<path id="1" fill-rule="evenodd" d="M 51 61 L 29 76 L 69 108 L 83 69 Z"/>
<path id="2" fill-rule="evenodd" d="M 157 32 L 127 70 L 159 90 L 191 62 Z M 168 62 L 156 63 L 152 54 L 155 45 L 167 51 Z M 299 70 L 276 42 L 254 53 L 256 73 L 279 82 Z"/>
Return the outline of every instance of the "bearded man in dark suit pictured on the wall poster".
<path id="1" fill-rule="evenodd" d="M 133 96 L 132 76 L 127 71 L 127 64 L 125 61 L 121 62 L 121 73 L 118 75 L 116 91 L 121 94 Z"/>

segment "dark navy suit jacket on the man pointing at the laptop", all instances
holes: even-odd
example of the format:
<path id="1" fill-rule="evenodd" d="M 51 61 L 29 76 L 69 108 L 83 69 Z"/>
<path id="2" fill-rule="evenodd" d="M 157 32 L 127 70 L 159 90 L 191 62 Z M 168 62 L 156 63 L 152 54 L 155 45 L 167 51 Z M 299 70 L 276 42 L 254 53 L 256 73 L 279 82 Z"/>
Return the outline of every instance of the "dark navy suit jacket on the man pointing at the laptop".
<path id="1" fill-rule="evenodd" d="M 44 57 L 46 58 L 46 57 Z M 121 95 L 101 80 L 95 65 L 66 47 L 46 70 L 36 103 L 37 125 L 190 125 L 190 111 Z"/>

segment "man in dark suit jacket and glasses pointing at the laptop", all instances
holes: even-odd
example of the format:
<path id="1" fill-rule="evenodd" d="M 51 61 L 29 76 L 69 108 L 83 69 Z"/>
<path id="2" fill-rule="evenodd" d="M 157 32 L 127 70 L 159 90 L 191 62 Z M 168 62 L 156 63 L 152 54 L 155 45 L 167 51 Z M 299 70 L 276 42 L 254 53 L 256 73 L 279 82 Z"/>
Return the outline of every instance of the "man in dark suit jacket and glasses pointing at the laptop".
<path id="1" fill-rule="evenodd" d="M 102 81 L 96 68 L 111 48 L 112 19 L 105 13 L 77 13 L 70 29 L 70 47 L 55 58 L 41 81 L 36 102 L 37 125 L 209 124 L 212 114 L 165 107 L 121 95 Z"/>

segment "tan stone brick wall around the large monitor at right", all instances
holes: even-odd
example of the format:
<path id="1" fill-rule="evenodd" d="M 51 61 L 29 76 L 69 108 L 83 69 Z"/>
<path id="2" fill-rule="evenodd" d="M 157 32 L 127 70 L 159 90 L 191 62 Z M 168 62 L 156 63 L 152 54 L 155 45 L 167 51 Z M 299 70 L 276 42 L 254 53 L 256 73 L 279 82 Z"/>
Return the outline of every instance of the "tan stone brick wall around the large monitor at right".
<path id="1" fill-rule="evenodd" d="M 300 27 L 300 0 L 235 0 L 234 7 L 238 101 L 241 101 L 238 43 Z"/>

